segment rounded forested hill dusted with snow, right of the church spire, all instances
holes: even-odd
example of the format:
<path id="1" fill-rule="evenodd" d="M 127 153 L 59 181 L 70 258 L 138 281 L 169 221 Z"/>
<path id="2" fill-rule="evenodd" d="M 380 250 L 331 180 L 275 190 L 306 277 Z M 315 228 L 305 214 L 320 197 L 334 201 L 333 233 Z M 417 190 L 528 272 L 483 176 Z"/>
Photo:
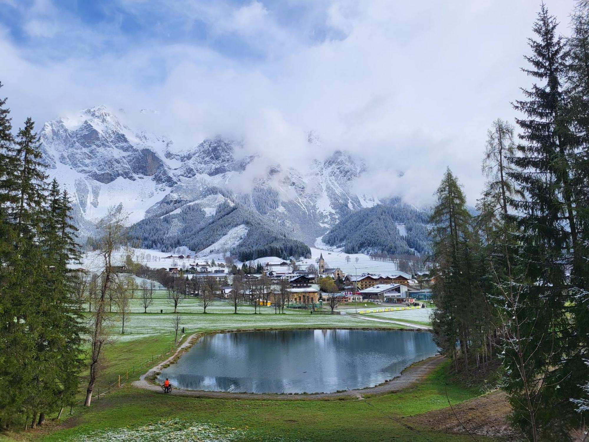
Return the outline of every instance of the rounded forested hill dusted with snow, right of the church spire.
<path id="1" fill-rule="evenodd" d="M 428 212 L 391 199 L 342 217 L 322 240 L 346 253 L 421 254 L 430 250 L 428 219 Z"/>

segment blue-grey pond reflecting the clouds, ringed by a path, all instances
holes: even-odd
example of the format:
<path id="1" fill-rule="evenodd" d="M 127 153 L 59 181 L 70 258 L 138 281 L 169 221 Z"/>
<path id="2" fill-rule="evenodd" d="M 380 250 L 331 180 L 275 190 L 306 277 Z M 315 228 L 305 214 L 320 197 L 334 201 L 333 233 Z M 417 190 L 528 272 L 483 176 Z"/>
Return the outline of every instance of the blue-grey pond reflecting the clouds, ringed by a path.
<path id="1" fill-rule="evenodd" d="M 176 388 L 312 393 L 373 387 L 438 352 L 427 332 L 279 330 L 206 335 L 158 379 Z"/>

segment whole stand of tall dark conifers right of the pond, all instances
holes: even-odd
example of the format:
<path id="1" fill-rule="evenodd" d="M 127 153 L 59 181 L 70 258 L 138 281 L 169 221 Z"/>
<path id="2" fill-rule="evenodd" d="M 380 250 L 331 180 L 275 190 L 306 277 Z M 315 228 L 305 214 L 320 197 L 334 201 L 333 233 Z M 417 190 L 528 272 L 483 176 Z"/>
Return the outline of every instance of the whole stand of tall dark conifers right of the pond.
<path id="1" fill-rule="evenodd" d="M 569 440 L 589 381 L 589 10 L 557 35 L 542 5 L 529 40 L 530 89 L 514 127 L 494 121 L 478 215 L 447 170 L 432 213 L 435 337 L 457 371 L 501 364 L 512 423 Z"/>

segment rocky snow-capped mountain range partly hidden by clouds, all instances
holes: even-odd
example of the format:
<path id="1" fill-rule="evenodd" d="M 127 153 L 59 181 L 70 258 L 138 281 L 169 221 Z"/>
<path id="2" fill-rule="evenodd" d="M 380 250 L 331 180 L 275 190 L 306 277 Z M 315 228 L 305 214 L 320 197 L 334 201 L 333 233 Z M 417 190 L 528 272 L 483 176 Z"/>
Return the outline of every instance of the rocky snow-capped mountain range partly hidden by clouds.
<path id="1" fill-rule="evenodd" d="M 315 133 L 307 139 L 320 147 Z M 104 106 L 45 123 L 41 140 L 49 173 L 72 195 L 82 235 L 91 234 L 107 208 L 118 204 L 131 222 L 177 217 L 190 206 L 214 217 L 220 204 L 225 209 L 239 204 L 312 245 L 340 216 L 378 203 L 355 192 L 365 166 L 346 152 L 298 170 L 267 166 L 262 154 L 246 154 L 239 141 L 216 137 L 176 146 L 168 137 L 125 126 Z M 250 168 L 256 179 L 236 191 L 231 183 Z"/>

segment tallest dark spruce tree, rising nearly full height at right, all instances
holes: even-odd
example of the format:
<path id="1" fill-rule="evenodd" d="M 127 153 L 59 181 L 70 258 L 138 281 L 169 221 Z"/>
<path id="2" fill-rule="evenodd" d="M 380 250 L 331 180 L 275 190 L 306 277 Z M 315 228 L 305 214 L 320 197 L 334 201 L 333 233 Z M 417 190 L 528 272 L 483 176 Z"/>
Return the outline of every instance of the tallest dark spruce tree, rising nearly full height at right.
<path id="1" fill-rule="evenodd" d="M 508 174 L 526 198 L 510 201 L 516 209 L 511 219 L 519 229 L 514 262 L 521 285 L 520 308 L 507 327 L 514 332 L 517 324 L 526 343 L 519 348 L 522 355 L 506 349 L 504 388 L 514 410 L 512 420 L 528 437 L 567 440 L 581 420 L 570 398 L 582 394 L 578 385 L 587 379 L 581 336 L 571 321 L 574 300 L 567 275 L 570 268 L 573 274 L 578 271 L 580 258 L 569 161 L 577 142 L 563 85 L 568 51 L 545 5 L 533 31 L 537 39 L 528 40 L 532 54 L 525 57 L 531 67 L 524 72 L 538 83 L 522 89 L 525 99 L 514 105 L 524 114 L 516 120 L 522 143 L 510 159 L 517 170 Z M 518 365 L 518 359 L 525 364 Z"/>

